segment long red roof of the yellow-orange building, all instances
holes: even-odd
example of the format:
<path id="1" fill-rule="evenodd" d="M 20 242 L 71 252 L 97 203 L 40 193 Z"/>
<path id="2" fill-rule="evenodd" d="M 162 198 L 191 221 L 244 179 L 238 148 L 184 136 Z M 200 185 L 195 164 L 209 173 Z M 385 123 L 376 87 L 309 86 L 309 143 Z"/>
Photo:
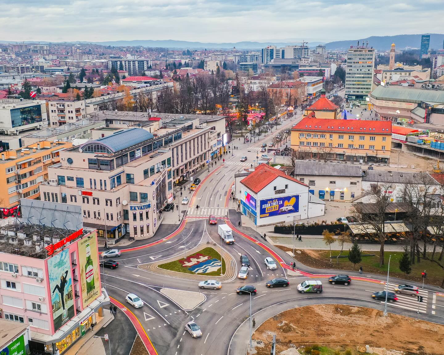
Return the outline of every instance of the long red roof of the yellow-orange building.
<path id="1" fill-rule="evenodd" d="M 392 122 L 305 117 L 293 126 L 292 130 L 391 134 Z"/>

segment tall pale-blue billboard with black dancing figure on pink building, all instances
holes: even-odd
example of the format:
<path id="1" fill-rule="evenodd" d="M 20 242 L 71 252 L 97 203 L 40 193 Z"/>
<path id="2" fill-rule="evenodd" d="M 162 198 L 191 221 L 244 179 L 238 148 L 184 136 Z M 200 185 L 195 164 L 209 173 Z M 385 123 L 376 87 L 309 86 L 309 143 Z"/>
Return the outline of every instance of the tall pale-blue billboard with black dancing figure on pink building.
<path id="1" fill-rule="evenodd" d="M 72 295 L 71 261 L 69 249 L 52 256 L 48 260 L 49 287 L 51 288 L 52 320 L 54 330 L 74 317 L 74 301 Z"/>

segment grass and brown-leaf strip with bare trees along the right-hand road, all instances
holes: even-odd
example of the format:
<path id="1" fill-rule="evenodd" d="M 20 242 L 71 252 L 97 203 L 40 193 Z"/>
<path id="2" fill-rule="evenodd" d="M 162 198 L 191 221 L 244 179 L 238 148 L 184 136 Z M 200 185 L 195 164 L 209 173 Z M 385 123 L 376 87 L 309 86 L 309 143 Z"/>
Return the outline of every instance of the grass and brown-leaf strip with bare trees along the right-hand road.
<path id="1" fill-rule="evenodd" d="M 279 247 L 282 250 L 285 247 Z M 285 251 L 290 251 L 291 249 L 285 248 Z M 342 252 L 342 255 L 348 255 L 348 250 Z M 332 256 L 339 254 L 339 251 L 332 250 Z M 376 254 L 375 256 L 363 256 L 361 263 L 356 264 L 356 268 L 349 261 L 348 258 L 339 258 L 339 264 L 336 264 L 336 259 L 332 259 L 332 264 L 330 265 L 329 250 L 301 250 L 301 254 L 296 253 L 296 260 L 300 261 L 302 264 L 311 266 L 314 268 L 334 268 L 340 270 L 359 270 L 362 266 L 364 272 L 371 272 L 379 275 L 387 275 L 387 269 L 390 259 L 390 276 L 398 277 L 400 279 L 411 280 L 416 282 L 422 282 L 421 272 L 427 272 L 427 278 L 425 279 L 426 284 L 432 284 L 435 286 L 441 286 L 444 280 L 444 269 L 432 260 L 421 259 L 420 263 L 412 265 L 412 272 L 410 274 L 405 274 L 399 269 L 399 260 L 402 256 L 402 252 L 385 252 L 384 262 L 385 264 L 379 267 L 379 251 L 377 252 L 363 252 L 363 254 Z M 438 254 L 439 255 L 439 254 Z M 438 259 L 438 255 L 435 256 L 435 260 Z M 442 262 L 441 262 L 442 263 Z"/>

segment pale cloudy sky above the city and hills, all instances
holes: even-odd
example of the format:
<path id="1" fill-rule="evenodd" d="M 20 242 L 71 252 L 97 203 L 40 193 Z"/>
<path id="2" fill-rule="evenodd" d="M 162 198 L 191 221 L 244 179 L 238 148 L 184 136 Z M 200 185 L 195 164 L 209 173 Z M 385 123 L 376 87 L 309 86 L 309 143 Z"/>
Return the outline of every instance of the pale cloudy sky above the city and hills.
<path id="1" fill-rule="evenodd" d="M 443 33 L 443 19 L 443 0 L 0 0 L 0 41 L 329 42 Z"/>

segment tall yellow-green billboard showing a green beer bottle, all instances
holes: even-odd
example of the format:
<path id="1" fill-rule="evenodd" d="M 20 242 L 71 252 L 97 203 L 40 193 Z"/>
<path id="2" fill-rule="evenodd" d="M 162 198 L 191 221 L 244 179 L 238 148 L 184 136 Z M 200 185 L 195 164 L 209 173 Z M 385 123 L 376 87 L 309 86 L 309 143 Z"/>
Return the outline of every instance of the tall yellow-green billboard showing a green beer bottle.
<path id="1" fill-rule="evenodd" d="M 100 295 L 100 272 L 96 232 L 77 242 L 79 248 L 80 284 L 83 308 Z"/>

